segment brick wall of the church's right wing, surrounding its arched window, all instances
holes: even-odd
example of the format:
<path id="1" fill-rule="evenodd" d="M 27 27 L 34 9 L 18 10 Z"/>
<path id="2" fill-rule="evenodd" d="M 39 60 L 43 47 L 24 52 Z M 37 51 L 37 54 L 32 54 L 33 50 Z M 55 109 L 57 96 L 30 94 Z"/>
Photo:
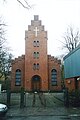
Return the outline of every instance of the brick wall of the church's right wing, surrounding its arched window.
<path id="1" fill-rule="evenodd" d="M 48 55 L 48 80 L 49 80 L 49 89 L 50 90 L 61 90 L 61 69 L 60 69 L 61 61 L 57 58 Z M 51 70 L 57 70 L 57 86 L 51 85 Z"/>

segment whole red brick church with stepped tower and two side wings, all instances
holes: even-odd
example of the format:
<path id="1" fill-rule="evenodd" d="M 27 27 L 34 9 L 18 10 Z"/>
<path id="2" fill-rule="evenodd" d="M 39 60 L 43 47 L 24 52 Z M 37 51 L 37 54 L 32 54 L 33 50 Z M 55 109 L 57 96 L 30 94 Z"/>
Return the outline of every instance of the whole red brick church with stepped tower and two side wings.
<path id="1" fill-rule="evenodd" d="M 11 89 L 61 90 L 61 62 L 47 54 L 47 31 L 38 15 L 25 31 L 25 55 L 12 61 Z M 54 43 L 52 43 L 54 44 Z"/>

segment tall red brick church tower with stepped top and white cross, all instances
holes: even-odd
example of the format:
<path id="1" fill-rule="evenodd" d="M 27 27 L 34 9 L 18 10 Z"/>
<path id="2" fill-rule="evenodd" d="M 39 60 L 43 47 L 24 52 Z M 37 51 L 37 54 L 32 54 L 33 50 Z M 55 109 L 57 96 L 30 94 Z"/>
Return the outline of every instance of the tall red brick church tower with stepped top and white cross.
<path id="1" fill-rule="evenodd" d="M 48 90 L 47 32 L 38 15 L 25 31 L 25 89 Z"/>

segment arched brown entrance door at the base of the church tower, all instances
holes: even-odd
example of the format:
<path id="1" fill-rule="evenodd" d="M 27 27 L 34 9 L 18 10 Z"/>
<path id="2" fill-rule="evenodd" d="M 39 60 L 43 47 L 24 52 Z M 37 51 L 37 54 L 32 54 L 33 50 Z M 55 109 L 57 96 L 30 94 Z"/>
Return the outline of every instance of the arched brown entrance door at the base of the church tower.
<path id="1" fill-rule="evenodd" d="M 38 75 L 32 77 L 32 91 L 40 91 L 41 89 L 41 78 Z"/>

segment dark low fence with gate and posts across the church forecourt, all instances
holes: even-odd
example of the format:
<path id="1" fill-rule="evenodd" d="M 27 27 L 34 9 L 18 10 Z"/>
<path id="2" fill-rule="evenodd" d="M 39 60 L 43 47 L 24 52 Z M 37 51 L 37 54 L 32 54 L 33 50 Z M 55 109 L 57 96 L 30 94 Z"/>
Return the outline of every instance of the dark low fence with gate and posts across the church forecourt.
<path id="1" fill-rule="evenodd" d="M 0 102 L 7 104 L 7 93 L 0 94 Z M 69 107 L 68 90 L 49 92 L 24 92 L 10 94 L 10 106 L 17 107 Z"/>

